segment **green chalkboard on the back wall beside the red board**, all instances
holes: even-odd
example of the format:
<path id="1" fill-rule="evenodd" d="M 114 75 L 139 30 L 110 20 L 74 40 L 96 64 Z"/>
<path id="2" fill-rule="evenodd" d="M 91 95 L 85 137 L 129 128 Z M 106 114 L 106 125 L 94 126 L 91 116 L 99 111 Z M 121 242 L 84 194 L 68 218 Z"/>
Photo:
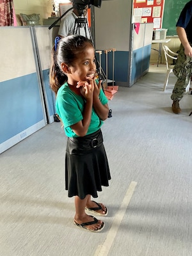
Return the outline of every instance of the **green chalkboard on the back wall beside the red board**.
<path id="1" fill-rule="evenodd" d="M 189 0 L 165 0 L 162 28 L 168 29 L 166 33 L 167 36 L 177 35 L 175 25 L 182 8 L 184 8 L 185 4 L 188 2 Z"/>

